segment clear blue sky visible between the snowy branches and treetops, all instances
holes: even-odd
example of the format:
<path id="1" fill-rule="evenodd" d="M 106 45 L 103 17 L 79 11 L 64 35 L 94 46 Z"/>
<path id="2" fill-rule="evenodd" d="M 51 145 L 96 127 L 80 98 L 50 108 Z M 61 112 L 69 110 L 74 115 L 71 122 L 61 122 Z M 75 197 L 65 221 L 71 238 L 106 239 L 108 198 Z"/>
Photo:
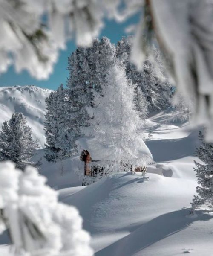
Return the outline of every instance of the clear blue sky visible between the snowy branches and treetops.
<path id="1" fill-rule="evenodd" d="M 107 21 L 104 29 L 102 29 L 101 35 L 107 36 L 112 43 L 115 43 L 125 36 L 125 28 L 133 23 L 138 22 L 138 15 L 130 18 L 125 23 L 116 23 L 115 21 Z M 67 67 L 68 56 L 75 50 L 75 42 L 69 41 L 67 43 L 67 49 L 61 51 L 58 62 L 55 64 L 52 75 L 47 80 L 36 80 L 32 78 L 27 71 L 16 73 L 14 67 L 9 67 L 6 73 L 0 75 L 0 86 L 13 86 L 13 85 L 36 85 L 43 88 L 49 88 L 55 90 L 60 84 L 66 84 L 67 77 L 69 76 Z"/>

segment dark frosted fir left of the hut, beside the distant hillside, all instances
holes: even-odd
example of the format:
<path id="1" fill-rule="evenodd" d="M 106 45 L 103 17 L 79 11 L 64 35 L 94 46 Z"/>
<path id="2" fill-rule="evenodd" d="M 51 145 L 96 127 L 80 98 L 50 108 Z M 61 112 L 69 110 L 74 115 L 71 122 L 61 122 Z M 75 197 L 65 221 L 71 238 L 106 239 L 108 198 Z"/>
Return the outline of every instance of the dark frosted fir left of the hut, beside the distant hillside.
<path id="1" fill-rule="evenodd" d="M 68 90 L 62 84 L 46 98 L 44 156 L 49 162 L 63 160 L 75 153 L 73 134 L 76 126 L 75 122 L 70 125 L 70 108 Z"/>

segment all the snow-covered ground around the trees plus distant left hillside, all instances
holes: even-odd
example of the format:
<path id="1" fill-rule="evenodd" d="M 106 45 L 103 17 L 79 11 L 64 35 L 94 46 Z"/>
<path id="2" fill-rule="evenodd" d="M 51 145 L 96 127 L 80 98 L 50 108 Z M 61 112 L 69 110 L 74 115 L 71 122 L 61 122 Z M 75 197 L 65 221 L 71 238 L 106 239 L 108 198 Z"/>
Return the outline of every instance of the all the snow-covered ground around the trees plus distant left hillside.
<path id="1" fill-rule="evenodd" d="M 31 98 L 31 87 L 25 88 L 26 91 L 24 87 L 0 88 L 0 107 L 6 111 L 0 122 L 17 111 L 14 106 L 23 106 L 29 125 L 42 140 L 44 101 L 38 103 L 40 96 L 33 93 Z M 19 90 L 27 100 L 18 97 Z M 42 90 L 44 99 L 49 91 Z M 84 228 L 92 235 L 96 256 L 213 255 L 213 215 L 201 210 L 189 214 L 196 189 L 193 160 L 197 160 L 194 150 L 199 145 L 198 130 L 190 129 L 188 123 L 169 122 L 168 113 L 162 112 L 147 121 L 149 133 L 152 137 L 147 146 L 155 163 L 148 166 L 146 178 L 140 173 L 119 173 L 82 187 L 82 180 L 75 173 L 83 172 L 79 157 L 64 160 L 63 168 L 61 163 L 43 160 L 40 173 L 48 177 L 50 186 L 59 189 L 61 201 L 79 209 Z M 42 155 L 40 149 L 36 157 Z M 8 242 L 6 233 L 0 236 L 0 244 Z M 8 247 L 0 247 L 0 255 L 6 256 L 7 250 Z"/>

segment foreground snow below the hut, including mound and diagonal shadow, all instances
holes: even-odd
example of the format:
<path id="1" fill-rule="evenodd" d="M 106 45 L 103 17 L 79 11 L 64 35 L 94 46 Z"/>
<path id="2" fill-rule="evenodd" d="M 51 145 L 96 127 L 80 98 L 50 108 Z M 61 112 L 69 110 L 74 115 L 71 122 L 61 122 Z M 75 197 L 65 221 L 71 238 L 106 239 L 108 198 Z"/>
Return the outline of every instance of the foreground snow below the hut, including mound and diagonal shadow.
<path id="1" fill-rule="evenodd" d="M 80 211 L 97 256 L 153 256 L 156 252 L 171 256 L 186 251 L 209 256 L 213 215 L 189 214 L 196 177 L 193 168 L 181 176 L 183 167 L 184 159 L 171 164 L 179 177 L 110 175 L 78 192 L 75 189 L 75 194 L 68 190 L 65 196 L 63 191 L 61 200 Z"/>

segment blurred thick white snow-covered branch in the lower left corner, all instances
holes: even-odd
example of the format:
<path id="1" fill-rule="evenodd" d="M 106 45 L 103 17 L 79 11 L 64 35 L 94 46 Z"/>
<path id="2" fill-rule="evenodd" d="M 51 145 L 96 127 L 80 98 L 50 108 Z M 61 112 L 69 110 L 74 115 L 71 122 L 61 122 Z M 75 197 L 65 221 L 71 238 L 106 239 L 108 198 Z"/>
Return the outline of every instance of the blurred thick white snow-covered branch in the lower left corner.
<path id="1" fill-rule="evenodd" d="M 0 232 L 8 228 L 15 255 L 92 256 L 77 209 L 59 203 L 45 183 L 33 167 L 0 163 Z"/>

